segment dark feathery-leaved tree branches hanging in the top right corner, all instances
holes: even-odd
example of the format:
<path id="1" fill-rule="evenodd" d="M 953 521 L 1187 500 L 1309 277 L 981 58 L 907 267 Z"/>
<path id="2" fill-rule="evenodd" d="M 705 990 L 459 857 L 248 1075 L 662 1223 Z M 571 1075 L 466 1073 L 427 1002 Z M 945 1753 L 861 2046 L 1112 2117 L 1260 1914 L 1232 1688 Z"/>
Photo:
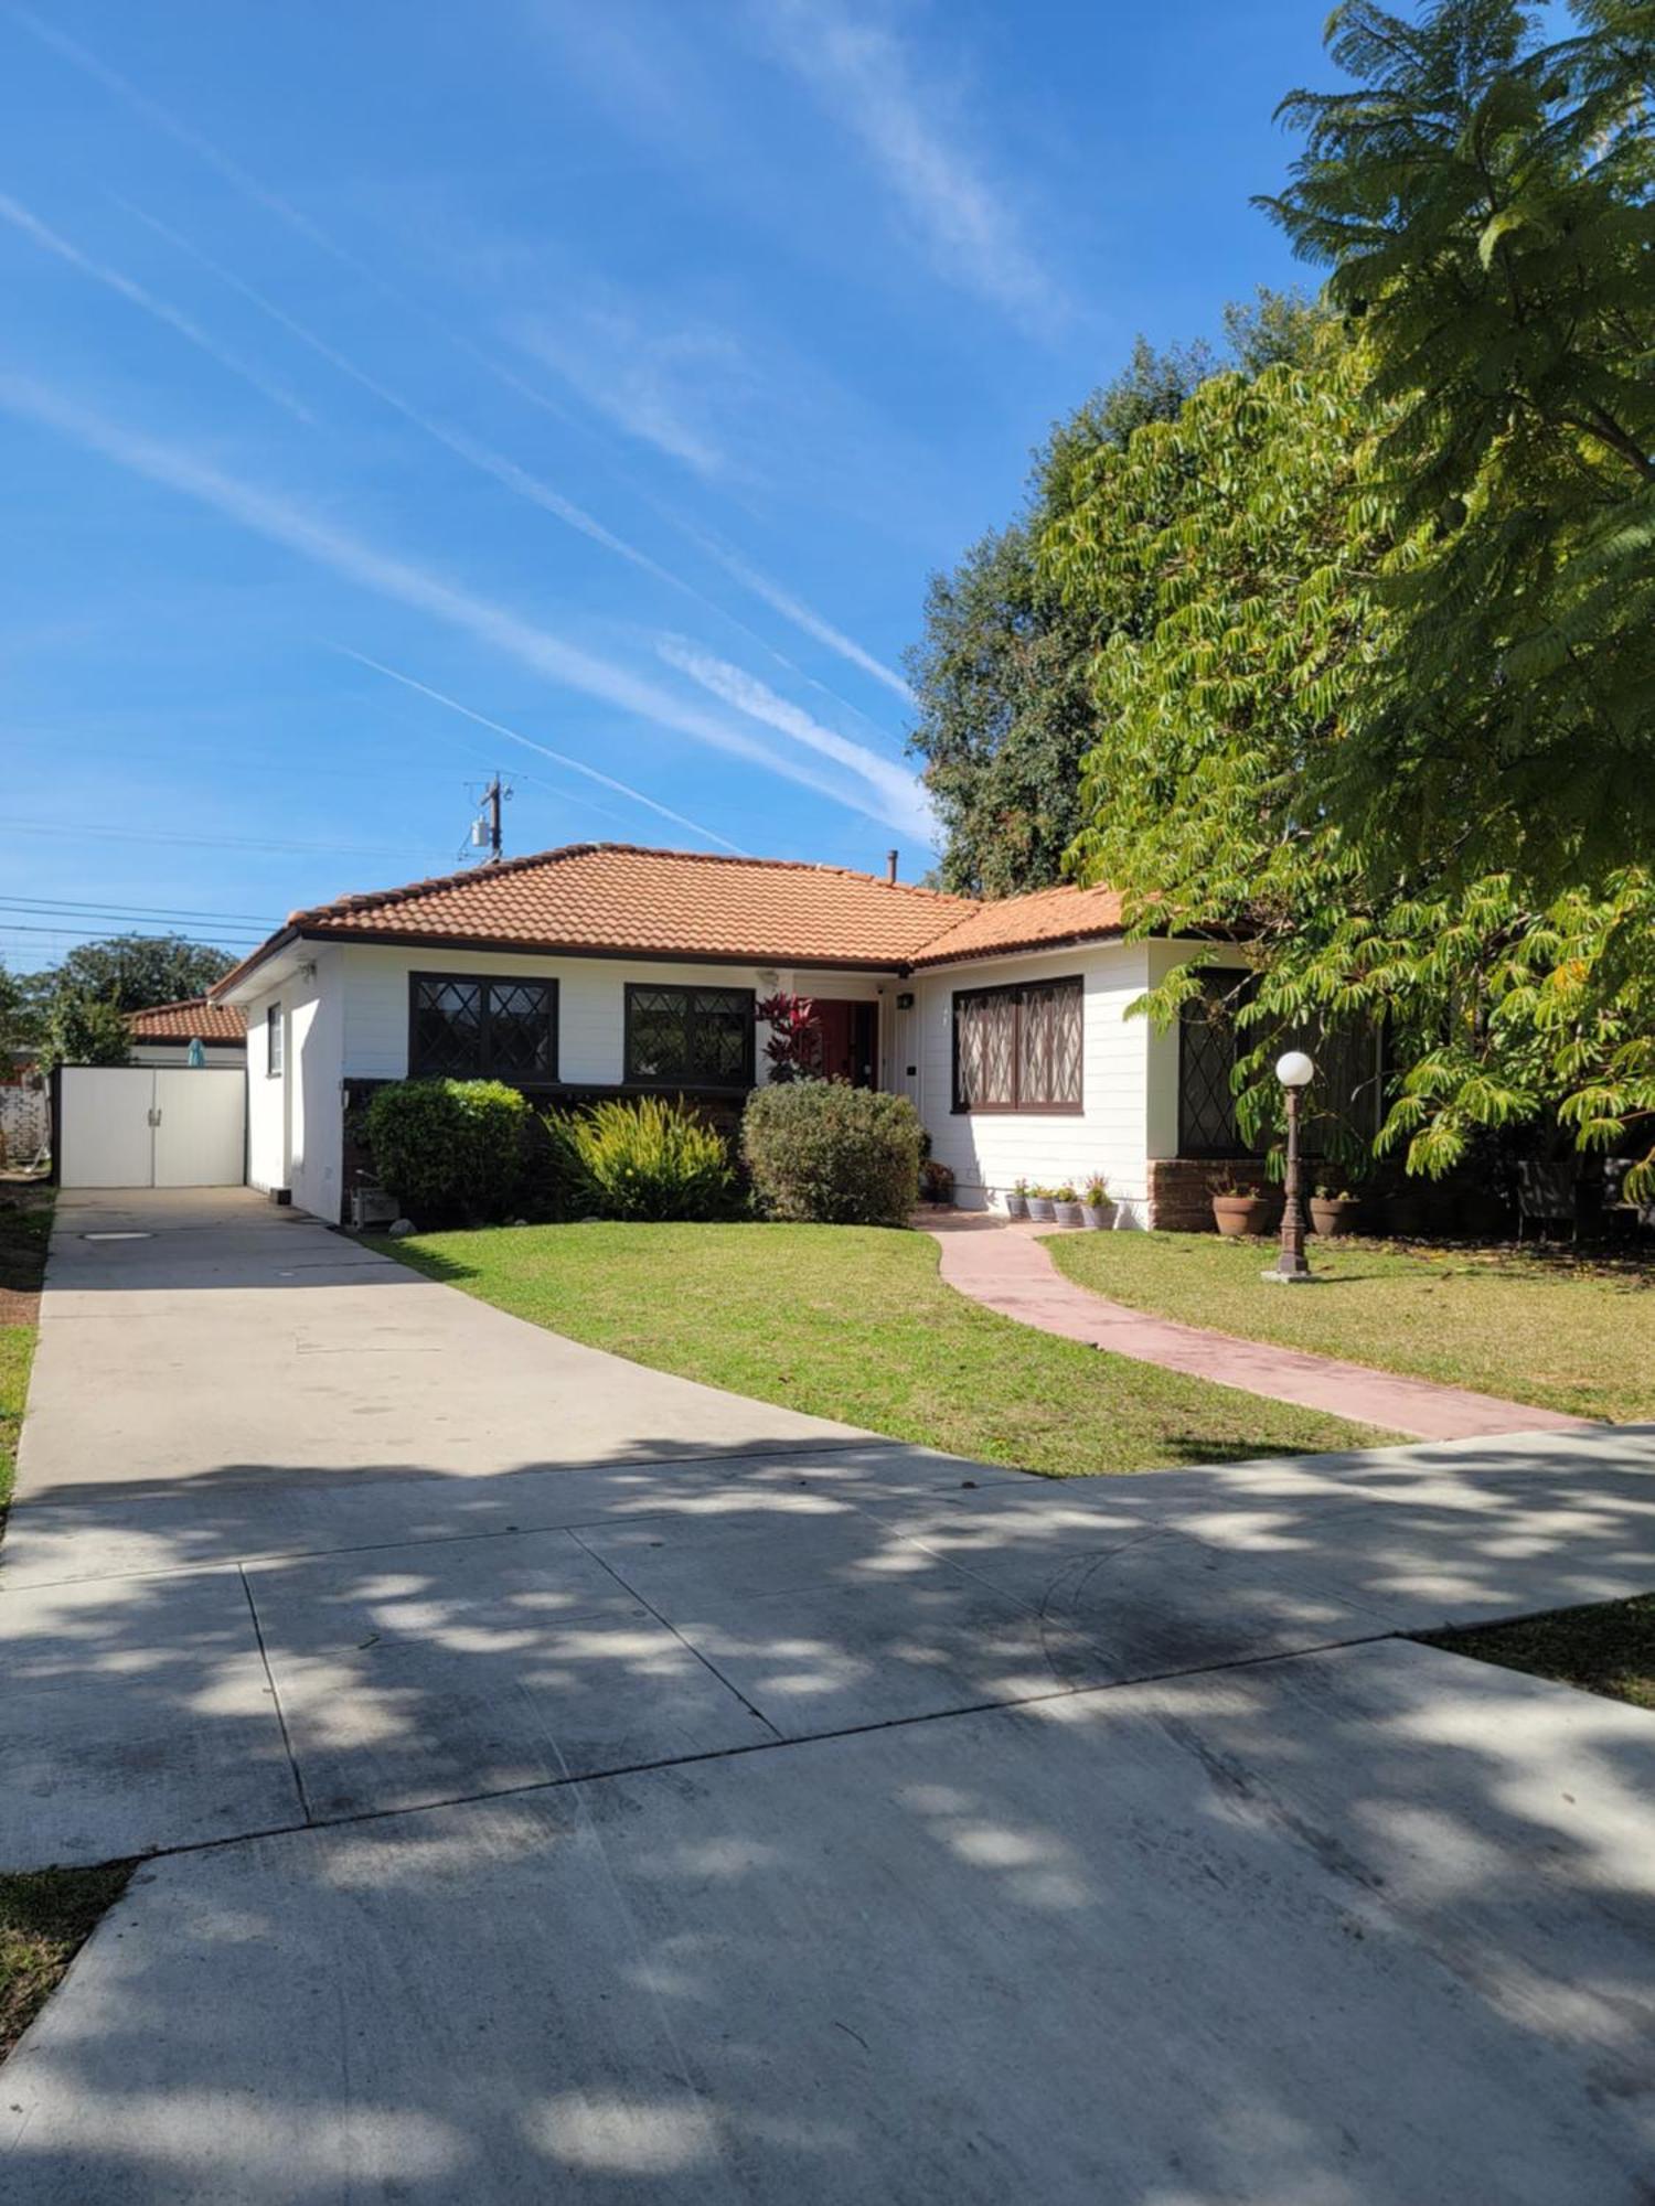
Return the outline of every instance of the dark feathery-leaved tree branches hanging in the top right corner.
<path id="1" fill-rule="evenodd" d="M 1362 329 L 1384 582 L 1317 794 L 1370 869 L 1454 860 L 1542 898 L 1655 832 L 1655 7 L 1346 0 L 1339 93 L 1264 201 Z"/>

